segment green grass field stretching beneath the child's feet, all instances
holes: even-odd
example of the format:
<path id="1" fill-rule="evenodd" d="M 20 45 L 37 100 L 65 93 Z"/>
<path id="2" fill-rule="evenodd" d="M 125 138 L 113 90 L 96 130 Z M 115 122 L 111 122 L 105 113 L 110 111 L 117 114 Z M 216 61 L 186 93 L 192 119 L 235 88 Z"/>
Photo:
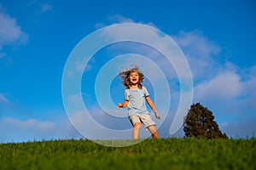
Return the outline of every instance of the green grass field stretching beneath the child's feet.
<path id="1" fill-rule="evenodd" d="M 145 139 L 127 147 L 90 140 L 0 144 L 0 169 L 256 169 L 256 139 Z"/>

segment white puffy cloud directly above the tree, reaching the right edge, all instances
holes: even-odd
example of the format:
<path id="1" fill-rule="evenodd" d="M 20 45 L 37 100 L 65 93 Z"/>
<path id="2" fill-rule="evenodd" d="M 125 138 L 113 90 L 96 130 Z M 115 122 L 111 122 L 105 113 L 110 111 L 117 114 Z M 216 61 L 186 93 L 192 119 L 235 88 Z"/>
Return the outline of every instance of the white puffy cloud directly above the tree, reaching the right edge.
<path id="1" fill-rule="evenodd" d="M 256 65 L 246 69 L 230 63 L 224 66 L 226 67 L 216 68 L 218 74 L 215 77 L 206 77 L 203 81 L 196 82 L 195 100 L 236 99 L 244 102 L 244 105 L 253 106 L 256 98 Z"/>

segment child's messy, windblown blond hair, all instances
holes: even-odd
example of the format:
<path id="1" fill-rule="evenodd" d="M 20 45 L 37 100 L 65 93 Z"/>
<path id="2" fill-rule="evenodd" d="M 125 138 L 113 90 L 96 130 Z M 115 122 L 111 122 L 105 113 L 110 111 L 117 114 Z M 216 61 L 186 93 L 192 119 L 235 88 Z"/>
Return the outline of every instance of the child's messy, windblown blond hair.
<path id="1" fill-rule="evenodd" d="M 122 71 L 119 73 L 119 76 L 121 77 L 121 79 L 123 80 L 122 83 L 124 84 L 125 88 L 129 89 L 131 88 L 131 82 L 130 82 L 130 75 L 132 72 L 137 72 L 139 80 L 138 80 L 138 88 L 142 89 L 143 85 L 143 78 L 144 75 L 143 73 L 139 70 L 138 66 L 135 65 L 133 68 Z"/>

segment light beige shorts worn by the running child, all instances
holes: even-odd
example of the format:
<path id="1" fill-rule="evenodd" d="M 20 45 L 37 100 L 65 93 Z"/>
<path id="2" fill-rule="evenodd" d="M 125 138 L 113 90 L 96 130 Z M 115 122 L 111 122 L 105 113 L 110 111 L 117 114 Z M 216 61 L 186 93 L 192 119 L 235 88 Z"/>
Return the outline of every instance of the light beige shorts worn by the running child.
<path id="1" fill-rule="evenodd" d="M 129 116 L 129 119 L 131 121 L 131 124 L 134 126 L 137 122 L 142 122 L 144 127 L 149 127 L 152 125 L 155 125 L 155 122 L 152 120 L 150 114 L 133 114 Z"/>

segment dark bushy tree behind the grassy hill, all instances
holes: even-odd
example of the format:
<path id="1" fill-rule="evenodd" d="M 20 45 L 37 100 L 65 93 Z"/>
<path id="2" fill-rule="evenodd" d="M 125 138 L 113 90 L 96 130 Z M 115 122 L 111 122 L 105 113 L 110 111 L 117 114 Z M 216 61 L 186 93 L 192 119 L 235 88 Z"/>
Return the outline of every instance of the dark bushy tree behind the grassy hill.
<path id="1" fill-rule="evenodd" d="M 183 122 L 183 131 L 186 137 L 207 139 L 227 139 L 227 135 L 221 133 L 217 122 L 214 121 L 212 111 L 200 103 L 191 105 L 188 115 Z"/>

